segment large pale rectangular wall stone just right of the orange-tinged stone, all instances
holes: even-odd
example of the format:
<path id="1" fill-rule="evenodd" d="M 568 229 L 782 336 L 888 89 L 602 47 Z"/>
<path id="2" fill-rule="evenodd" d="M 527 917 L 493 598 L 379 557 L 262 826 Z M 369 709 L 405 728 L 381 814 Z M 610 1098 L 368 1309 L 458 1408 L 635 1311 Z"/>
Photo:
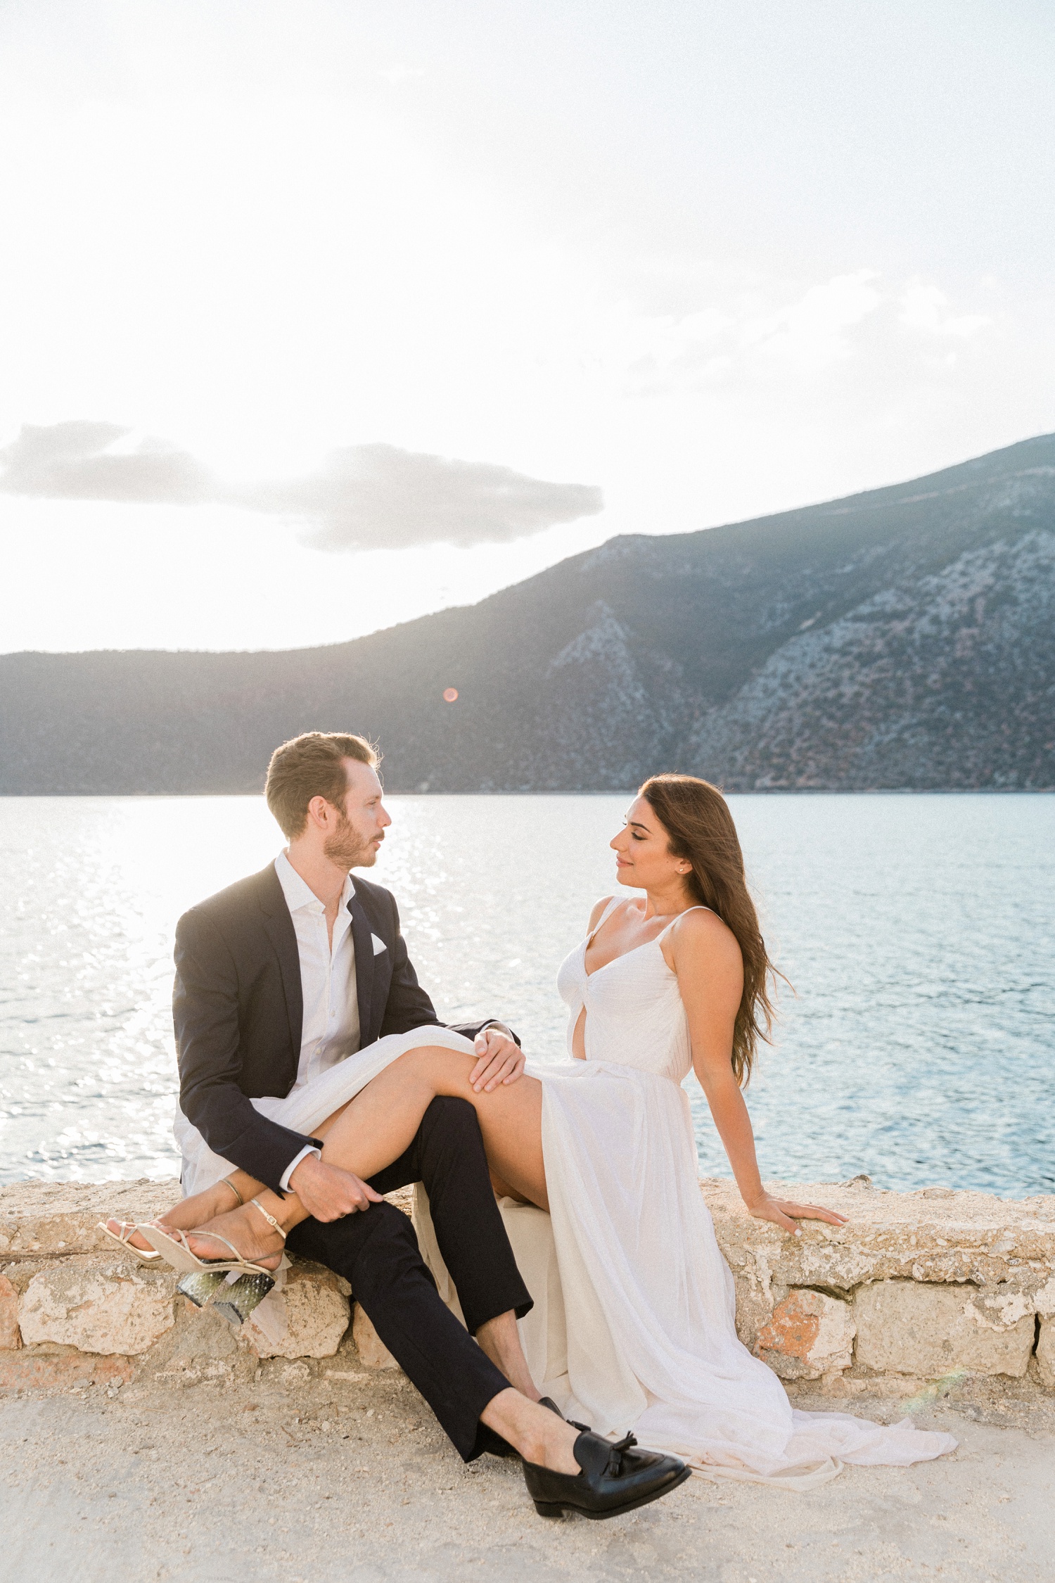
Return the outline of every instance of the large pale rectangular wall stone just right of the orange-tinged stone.
<path id="1" fill-rule="evenodd" d="M 857 1361 L 928 1379 L 957 1369 L 1020 1377 L 1030 1365 L 1034 1317 L 1015 1309 L 1001 1311 L 998 1300 L 970 1285 L 878 1281 L 854 1303 Z"/>

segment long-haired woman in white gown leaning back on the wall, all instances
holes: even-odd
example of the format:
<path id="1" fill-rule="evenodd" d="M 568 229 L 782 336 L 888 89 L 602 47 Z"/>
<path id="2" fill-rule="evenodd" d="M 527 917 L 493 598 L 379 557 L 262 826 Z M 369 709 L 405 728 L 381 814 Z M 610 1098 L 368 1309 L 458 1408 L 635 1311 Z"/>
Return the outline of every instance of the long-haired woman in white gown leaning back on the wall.
<path id="1" fill-rule="evenodd" d="M 680 1088 L 690 1067 L 753 1216 L 794 1235 L 797 1219 L 843 1217 L 772 1198 L 759 1178 L 742 1086 L 769 1037 L 772 966 L 724 798 L 690 776 L 655 776 L 612 847 L 620 885 L 644 899 L 598 902 L 560 969 L 574 1059 L 478 1092 L 467 1040 L 402 1035 L 430 1042 L 394 1051 L 369 1088 L 313 1126 L 324 1130 L 323 1157 L 370 1176 L 408 1146 L 437 1094 L 470 1099 L 536 1303 L 527 1346 L 544 1376 L 536 1384 L 601 1433 L 633 1426 L 712 1475 L 792 1486 L 830 1477 L 835 1460 L 906 1464 L 952 1450 L 951 1436 L 908 1420 L 883 1428 L 794 1412 L 778 1377 L 737 1339 L 732 1277 L 699 1194 Z M 228 1181 L 179 1206 L 180 1224 L 201 1227 L 190 1246 L 221 1255 L 214 1233 L 277 1260 L 280 1233 L 305 1211 L 244 1173 Z M 256 1201 L 215 1216 L 231 1187 Z M 206 1213 L 215 1219 L 201 1225 Z M 427 1219 L 422 1233 L 437 1263 Z"/>

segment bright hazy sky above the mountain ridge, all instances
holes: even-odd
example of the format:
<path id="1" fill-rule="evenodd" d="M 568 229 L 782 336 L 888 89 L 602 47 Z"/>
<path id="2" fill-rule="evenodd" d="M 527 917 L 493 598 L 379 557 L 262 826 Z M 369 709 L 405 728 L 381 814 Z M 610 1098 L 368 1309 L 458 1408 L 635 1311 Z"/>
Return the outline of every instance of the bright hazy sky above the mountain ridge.
<path id="1" fill-rule="evenodd" d="M 1046 0 L 0 0 L 0 651 L 282 649 L 1055 429 Z"/>

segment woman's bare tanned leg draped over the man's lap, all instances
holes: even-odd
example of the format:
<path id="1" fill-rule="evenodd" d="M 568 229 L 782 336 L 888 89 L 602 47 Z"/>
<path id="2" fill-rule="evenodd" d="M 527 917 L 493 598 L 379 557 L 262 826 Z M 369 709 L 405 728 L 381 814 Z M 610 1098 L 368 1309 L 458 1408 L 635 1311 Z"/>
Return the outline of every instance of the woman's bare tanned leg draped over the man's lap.
<path id="1" fill-rule="evenodd" d="M 410 1148 L 433 1099 L 454 1095 L 475 1107 L 487 1160 L 503 1186 L 511 1187 L 516 1197 L 549 1209 L 543 1164 L 543 1084 L 538 1078 L 519 1078 L 490 1094 L 476 1094 L 468 1081 L 475 1065 L 476 1056 L 446 1045 L 408 1050 L 343 1110 L 327 1118 L 323 1160 L 365 1181 Z M 263 1189 L 251 1197 L 275 1216 L 285 1232 L 307 1219 L 307 1209 L 294 1194 L 282 1198 Z M 248 1201 L 199 1224 L 196 1230 L 190 1246 L 201 1258 L 223 1255 L 223 1246 L 210 1239 L 210 1233 L 234 1243 L 247 1258 L 274 1257 L 282 1249 L 278 1233 Z"/>

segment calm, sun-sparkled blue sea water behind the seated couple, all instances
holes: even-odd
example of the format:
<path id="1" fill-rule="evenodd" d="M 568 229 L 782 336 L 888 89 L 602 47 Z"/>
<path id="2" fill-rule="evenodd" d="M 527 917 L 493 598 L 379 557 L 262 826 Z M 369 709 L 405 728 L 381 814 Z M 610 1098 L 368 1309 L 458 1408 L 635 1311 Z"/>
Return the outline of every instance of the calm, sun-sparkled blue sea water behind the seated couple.
<path id="1" fill-rule="evenodd" d="M 440 1016 L 565 1056 L 554 978 L 628 795 L 394 796 Z M 731 798 L 794 985 L 748 1089 L 767 1178 L 1055 1192 L 1055 798 Z M 0 799 L 0 1181 L 176 1171 L 172 931 L 282 845 L 261 798 Z M 701 1171 L 729 1175 L 694 1078 Z"/>

